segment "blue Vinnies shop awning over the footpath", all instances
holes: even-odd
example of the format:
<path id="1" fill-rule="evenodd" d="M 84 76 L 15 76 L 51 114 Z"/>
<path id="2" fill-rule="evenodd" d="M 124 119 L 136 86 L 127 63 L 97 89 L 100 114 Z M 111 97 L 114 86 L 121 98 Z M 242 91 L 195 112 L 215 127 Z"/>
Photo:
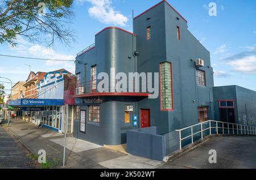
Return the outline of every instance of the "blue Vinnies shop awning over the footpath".
<path id="1" fill-rule="evenodd" d="M 9 106 L 58 106 L 64 105 L 61 99 L 45 99 L 45 98 L 20 98 L 18 100 L 9 101 Z"/>

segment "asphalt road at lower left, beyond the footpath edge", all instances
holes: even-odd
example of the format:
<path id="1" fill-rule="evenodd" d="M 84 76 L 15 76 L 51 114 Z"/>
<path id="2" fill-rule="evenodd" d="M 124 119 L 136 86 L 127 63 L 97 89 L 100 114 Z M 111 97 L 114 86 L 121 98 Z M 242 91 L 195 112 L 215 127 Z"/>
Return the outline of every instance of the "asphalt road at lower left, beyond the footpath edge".
<path id="1" fill-rule="evenodd" d="M 37 168 L 35 161 L 27 155 L 26 149 L 18 144 L 4 127 L 0 126 L 0 168 Z"/>

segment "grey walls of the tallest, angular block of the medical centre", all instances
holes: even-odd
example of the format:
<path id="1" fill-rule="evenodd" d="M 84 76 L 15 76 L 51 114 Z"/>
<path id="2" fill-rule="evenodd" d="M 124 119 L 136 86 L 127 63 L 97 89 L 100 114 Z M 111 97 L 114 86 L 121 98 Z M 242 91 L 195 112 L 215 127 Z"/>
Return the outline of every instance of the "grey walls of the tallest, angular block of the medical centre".
<path id="1" fill-rule="evenodd" d="M 147 18 L 150 16 L 150 20 Z M 151 126 L 164 134 L 198 123 L 197 106 L 209 106 L 209 118 L 214 118 L 212 87 L 213 69 L 210 55 L 187 29 L 187 23 L 166 2 L 152 8 L 134 20 L 137 35 L 138 71 L 159 72 L 159 63 L 172 63 L 174 110 L 160 111 L 160 95 L 155 100 L 142 100 L 139 108 L 151 110 Z M 146 40 L 146 27 L 151 26 L 151 40 Z M 181 40 L 177 40 L 177 26 Z M 195 59 L 204 59 L 207 87 L 196 85 Z M 194 62 L 191 62 L 191 59 Z M 195 101 L 195 102 L 193 102 Z M 139 114 L 138 114 L 139 115 Z"/>

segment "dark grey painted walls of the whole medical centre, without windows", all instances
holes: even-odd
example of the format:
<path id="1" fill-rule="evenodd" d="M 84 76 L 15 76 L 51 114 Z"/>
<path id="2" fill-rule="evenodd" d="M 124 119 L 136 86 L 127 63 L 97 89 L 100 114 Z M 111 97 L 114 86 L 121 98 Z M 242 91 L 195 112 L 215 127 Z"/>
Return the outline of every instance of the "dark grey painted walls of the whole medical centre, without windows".
<path id="1" fill-rule="evenodd" d="M 151 27 L 150 40 L 146 38 L 148 26 Z M 180 40 L 177 40 L 177 26 L 180 27 Z M 210 54 L 188 31 L 187 22 L 163 1 L 134 19 L 134 33 L 136 36 L 114 27 L 98 33 L 95 37 L 95 48 L 77 56 L 76 74 L 80 74 L 80 81 L 83 84 L 90 81 L 90 68 L 94 65 L 97 65 L 97 74 L 106 72 L 110 75 L 110 68 L 113 67 L 116 73 L 135 72 L 135 62 L 139 73 L 159 72 L 160 63 L 170 62 L 173 110 L 160 109 L 160 95 L 155 99 L 144 96 L 101 96 L 99 98 L 103 102 L 100 104 L 100 123 L 86 120 L 86 132 L 82 133 L 76 121 L 74 125 L 76 138 L 97 144 L 126 143 L 126 131 L 132 130 L 133 126 L 132 121 L 130 123 L 123 121 L 125 105 L 134 106 L 133 114 L 138 116 L 137 128 L 141 128 L 141 109 L 149 109 L 150 126 L 155 126 L 157 134 L 160 135 L 198 123 L 199 106 L 207 107 L 208 119 L 214 118 L 213 69 L 210 66 Z M 139 53 L 135 58 L 133 51 Z M 205 71 L 206 86 L 196 84 L 197 58 L 204 60 L 205 65 L 200 67 L 200 70 Z M 90 97 L 80 97 L 80 99 L 84 98 Z M 88 112 L 88 104 L 77 105 Z"/>

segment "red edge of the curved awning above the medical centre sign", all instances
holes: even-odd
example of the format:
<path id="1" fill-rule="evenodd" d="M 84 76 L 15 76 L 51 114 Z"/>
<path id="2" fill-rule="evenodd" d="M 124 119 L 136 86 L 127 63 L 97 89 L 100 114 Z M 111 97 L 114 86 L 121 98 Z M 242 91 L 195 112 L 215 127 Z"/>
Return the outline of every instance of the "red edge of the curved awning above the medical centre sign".
<path id="1" fill-rule="evenodd" d="M 150 93 L 136 93 L 136 92 L 95 92 L 95 93 L 88 93 L 85 95 L 75 95 L 71 96 L 73 98 L 79 97 L 96 97 L 96 96 L 150 96 Z"/>

